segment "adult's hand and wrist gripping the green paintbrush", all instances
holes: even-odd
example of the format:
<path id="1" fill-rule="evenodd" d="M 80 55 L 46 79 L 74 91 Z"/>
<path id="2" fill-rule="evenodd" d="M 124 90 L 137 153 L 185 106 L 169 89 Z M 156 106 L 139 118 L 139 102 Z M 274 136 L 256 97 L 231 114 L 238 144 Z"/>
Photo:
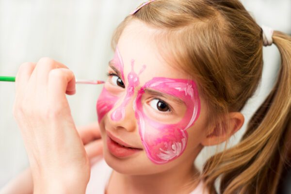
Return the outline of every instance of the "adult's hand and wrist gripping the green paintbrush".
<path id="1" fill-rule="evenodd" d="M 65 94 L 75 77 L 49 58 L 22 64 L 16 75 L 14 116 L 31 166 L 34 193 L 85 193 L 90 162 Z"/>

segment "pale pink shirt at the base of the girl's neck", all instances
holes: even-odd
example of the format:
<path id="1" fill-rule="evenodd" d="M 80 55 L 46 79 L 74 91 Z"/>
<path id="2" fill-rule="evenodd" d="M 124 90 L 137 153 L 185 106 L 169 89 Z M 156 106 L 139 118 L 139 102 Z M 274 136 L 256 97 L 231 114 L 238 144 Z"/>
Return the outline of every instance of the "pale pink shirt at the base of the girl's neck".
<path id="1" fill-rule="evenodd" d="M 91 176 L 87 185 L 86 194 L 104 194 L 105 187 L 112 173 L 112 168 L 107 165 L 104 159 L 96 162 L 91 167 Z M 208 194 L 203 193 L 203 182 L 200 181 L 198 186 L 190 194 Z"/>

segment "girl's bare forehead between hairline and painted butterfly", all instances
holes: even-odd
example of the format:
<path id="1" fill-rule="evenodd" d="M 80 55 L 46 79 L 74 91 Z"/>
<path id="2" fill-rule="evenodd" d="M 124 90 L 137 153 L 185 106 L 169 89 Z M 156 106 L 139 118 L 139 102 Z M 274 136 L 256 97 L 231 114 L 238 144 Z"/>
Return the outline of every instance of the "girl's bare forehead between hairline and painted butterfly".
<path id="1" fill-rule="evenodd" d="M 162 56 L 166 50 L 161 50 L 154 37 L 154 32 L 146 25 L 138 25 L 136 30 L 132 24 L 126 28 L 119 38 L 118 49 L 120 63 L 124 65 L 124 78 L 127 82 L 128 74 L 131 72 L 132 61 L 135 73 L 139 73 L 145 65 L 145 70 L 139 75 L 140 84 L 155 77 L 172 79 L 189 79 L 178 69 L 178 65 L 169 64 L 171 59 Z M 116 56 L 115 51 L 115 56 Z M 167 55 L 169 57 L 170 55 Z M 116 58 L 116 57 L 115 57 Z M 176 67 L 177 66 L 177 67 Z"/>

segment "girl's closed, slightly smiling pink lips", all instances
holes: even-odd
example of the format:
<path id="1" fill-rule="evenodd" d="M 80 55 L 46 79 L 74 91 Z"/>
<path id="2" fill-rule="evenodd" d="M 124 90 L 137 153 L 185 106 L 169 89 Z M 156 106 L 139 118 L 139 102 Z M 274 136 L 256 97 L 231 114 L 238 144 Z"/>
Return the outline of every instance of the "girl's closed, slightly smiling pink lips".
<path id="1" fill-rule="evenodd" d="M 122 142 L 122 141 L 112 136 L 116 140 L 114 141 L 113 138 L 111 138 L 110 136 L 112 135 L 107 133 L 107 137 L 106 137 L 107 147 L 110 153 L 118 158 L 125 158 L 142 150 L 139 148 L 132 148 L 132 147 L 124 146 L 124 144 L 117 143 L 116 141 L 118 142 Z"/>

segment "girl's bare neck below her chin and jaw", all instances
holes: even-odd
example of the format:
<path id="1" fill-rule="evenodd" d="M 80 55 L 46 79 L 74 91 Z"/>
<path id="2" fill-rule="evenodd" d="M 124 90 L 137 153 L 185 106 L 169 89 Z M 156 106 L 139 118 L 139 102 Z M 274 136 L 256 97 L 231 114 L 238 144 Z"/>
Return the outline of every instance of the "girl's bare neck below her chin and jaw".
<path id="1" fill-rule="evenodd" d="M 199 171 L 193 163 L 183 164 L 154 175 L 132 176 L 113 171 L 107 194 L 185 194 L 199 183 Z"/>

